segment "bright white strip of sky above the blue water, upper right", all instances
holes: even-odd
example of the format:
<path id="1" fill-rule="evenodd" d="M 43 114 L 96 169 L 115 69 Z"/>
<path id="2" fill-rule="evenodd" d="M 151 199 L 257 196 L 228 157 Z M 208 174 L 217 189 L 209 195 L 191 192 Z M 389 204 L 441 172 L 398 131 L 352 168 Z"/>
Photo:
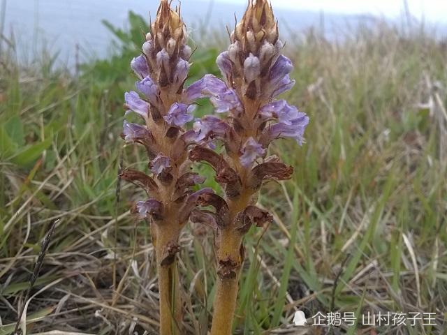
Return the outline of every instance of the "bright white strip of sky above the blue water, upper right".
<path id="1" fill-rule="evenodd" d="M 184 0 L 186 2 L 187 0 Z M 207 0 L 210 1 L 210 0 Z M 217 0 L 229 3 L 247 3 L 247 0 Z M 271 0 L 273 6 L 297 10 L 324 10 L 325 12 L 358 14 L 369 13 L 397 17 L 404 10 L 405 0 Z M 447 0 L 406 0 L 409 10 L 417 19 L 447 22 Z"/>

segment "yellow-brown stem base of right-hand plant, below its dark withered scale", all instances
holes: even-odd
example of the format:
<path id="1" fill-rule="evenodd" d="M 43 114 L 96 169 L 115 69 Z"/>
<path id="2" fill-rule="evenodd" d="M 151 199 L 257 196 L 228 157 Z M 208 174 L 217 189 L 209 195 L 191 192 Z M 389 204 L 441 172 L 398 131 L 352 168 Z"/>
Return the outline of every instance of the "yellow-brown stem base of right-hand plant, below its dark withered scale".
<path id="1" fill-rule="evenodd" d="M 217 292 L 214 298 L 211 335 L 231 335 L 236 309 L 238 277 L 217 277 Z"/>

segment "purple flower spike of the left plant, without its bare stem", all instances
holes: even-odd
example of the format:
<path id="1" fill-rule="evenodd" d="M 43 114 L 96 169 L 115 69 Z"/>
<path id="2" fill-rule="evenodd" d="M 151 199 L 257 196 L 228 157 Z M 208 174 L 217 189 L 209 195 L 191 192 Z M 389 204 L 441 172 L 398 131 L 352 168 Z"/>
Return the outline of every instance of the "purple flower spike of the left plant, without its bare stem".
<path id="1" fill-rule="evenodd" d="M 179 10 L 161 1 L 142 54 L 131 61 L 140 94 L 131 91 L 124 96 L 126 114 L 138 114 L 144 124 L 124 121 L 123 137 L 145 147 L 150 174 L 124 170 L 121 175 L 147 191 L 149 199 L 138 202 L 135 211 L 156 223 L 175 217 L 177 225 L 184 225 L 196 199 L 191 187 L 204 181 L 189 172 L 187 161 L 187 148 L 200 140 L 198 132 L 184 129 L 193 121 L 193 103 L 201 96 L 197 83 L 184 88 L 190 57 Z"/>

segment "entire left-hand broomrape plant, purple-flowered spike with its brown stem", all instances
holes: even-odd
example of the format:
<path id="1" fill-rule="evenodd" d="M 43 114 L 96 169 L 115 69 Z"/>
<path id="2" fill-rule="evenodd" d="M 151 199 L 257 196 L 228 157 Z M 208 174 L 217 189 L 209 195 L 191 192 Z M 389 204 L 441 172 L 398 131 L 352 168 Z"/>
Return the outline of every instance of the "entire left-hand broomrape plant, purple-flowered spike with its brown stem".
<path id="1" fill-rule="evenodd" d="M 170 9 L 162 0 L 151 31 L 142 45 L 142 54 L 131 61 L 138 77 L 135 91 L 125 94 L 126 107 L 141 117 L 143 124 L 124 121 L 127 143 L 142 144 L 149 158 L 150 175 L 127 169 L 120 177 L 143 188 L 148 199 L 133 211 L 146 219 L 152 232 L 159 277 L 160 334 L 181 334 L 182 301 L 175 255 L 179 234 L 188 221 L 203 188 L 191 187 L 205 178 L 190 172 L 187 148 L 200 140 L 196 131 L 184 125 L 193 120 L 193 101 L 200 96 L 197 85 L 184 88 L 189 72 L 191 48 L 180 10 Z"/>

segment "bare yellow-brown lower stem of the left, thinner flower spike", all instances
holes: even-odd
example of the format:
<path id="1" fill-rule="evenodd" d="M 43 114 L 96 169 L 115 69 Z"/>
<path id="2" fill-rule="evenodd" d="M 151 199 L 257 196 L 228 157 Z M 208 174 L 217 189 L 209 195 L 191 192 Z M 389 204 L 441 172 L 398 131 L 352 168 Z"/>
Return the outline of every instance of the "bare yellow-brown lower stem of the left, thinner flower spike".
<path id="1" fill-rule="evenodd" d="M 160 335 L 181 334 L 182 297 L 177 271 L 178 234 L 168 227 L 155 226 L 156 264 L 159 276 Z"/>

